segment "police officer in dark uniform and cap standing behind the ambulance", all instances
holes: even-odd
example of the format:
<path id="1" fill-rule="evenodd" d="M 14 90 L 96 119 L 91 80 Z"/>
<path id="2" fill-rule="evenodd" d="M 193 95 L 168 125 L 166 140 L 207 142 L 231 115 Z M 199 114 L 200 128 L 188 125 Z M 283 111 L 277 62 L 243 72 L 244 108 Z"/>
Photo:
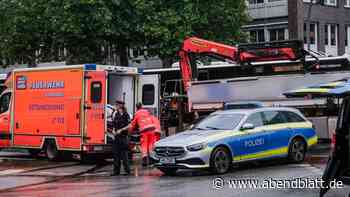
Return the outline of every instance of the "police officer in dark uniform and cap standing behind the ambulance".
<path id="1" fill-rule="evenodd" d="M 123 161 L 124 170 L 127 175 L 130 174 L 130 166 L 128 159 L 128 149 L 129 149 L 129 140 L 128 140 L 128 130 L 120 129 L 128 126 L 130 122 L 130 116 L 126 111 L 124 102 L 116 101 L 116 112 L 113 118 L 114 129 L 118 131 L 115 133 L 115 139 L 113 141 L 113 173 L 112 176 L 120 174 L 121 161 Z"/>

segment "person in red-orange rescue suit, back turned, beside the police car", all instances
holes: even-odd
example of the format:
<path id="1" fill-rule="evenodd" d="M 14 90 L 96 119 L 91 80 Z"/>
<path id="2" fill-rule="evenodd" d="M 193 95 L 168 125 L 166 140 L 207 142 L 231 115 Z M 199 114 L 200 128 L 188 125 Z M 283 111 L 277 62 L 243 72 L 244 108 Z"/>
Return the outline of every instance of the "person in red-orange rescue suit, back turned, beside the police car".
<path id="1" fill-rule="evenodd" d="M 142 108 L 142 104 L 136 104 L 136 113 L 129 126 L 129 132 L 138 131 L 140 133 L 142 165 L 149 163 L 149 153 L 152 151 L 156 138 L 156 126 L 153 123 L 152 115 L 148 110 Z"/>

